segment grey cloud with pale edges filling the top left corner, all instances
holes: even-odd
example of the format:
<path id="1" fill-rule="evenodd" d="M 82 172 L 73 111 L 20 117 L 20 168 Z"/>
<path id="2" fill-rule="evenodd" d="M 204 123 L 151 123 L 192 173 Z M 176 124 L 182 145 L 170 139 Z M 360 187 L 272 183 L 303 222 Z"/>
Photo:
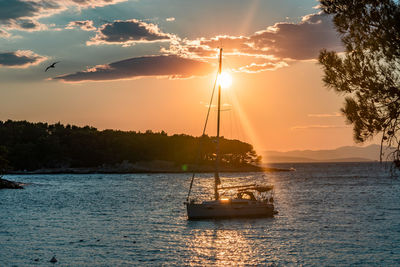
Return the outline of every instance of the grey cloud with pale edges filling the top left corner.
<path id="1" fill-rule="evenodd" d="M 0 0 L 0 25 L 9 30 L 47 29 L 38 22 L 69 8 L 95 8 L 126 0 Z"/>

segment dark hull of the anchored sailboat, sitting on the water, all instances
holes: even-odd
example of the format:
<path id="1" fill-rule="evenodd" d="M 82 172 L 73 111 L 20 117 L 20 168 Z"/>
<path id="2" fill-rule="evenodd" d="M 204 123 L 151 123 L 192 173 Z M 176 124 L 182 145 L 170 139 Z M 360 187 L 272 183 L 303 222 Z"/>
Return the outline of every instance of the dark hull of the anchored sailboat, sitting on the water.
<path id="1" fill-rule="evenodd" d="M 251 205 L 187 203 L 189 220 L 224 218 L 263 218 L 274 216 L 274 205 L 257 202 Z"/>

